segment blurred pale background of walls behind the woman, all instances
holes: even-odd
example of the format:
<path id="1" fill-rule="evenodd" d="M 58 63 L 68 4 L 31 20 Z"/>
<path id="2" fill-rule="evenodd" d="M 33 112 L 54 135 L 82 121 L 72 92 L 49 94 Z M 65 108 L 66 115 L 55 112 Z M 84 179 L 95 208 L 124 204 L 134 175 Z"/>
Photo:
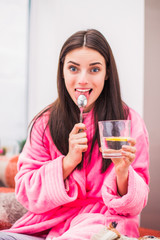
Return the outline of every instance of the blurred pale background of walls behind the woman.
<path id="1" fill-rule="evenodd" d="M 96 28 L 116 59 L 123 100 L 150 139 L 150 195 L 141 226 L 160 230 L 160 0 L 0 0 L 0 154 L 14 155 L 35 114 L 57 97 L 59 51 Z"/>

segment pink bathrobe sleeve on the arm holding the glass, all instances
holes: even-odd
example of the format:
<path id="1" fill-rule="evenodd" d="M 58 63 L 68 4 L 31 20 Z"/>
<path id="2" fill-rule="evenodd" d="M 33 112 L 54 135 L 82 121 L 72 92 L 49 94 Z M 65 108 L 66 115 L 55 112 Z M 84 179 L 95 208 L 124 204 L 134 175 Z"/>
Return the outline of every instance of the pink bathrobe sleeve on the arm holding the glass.
<path id="1" fill-rule="evenodd" d="M 106 176 L 102 196 L 108 206 L 108 214 L 135 216 L 140 214 L 148 199 L 149 147 L 148 133 L 141 117 L 130 110 L 131 136 L 136 139 L 136 158 L 129 167 L 128 192 L 119 196 L 114 167 Z"/>

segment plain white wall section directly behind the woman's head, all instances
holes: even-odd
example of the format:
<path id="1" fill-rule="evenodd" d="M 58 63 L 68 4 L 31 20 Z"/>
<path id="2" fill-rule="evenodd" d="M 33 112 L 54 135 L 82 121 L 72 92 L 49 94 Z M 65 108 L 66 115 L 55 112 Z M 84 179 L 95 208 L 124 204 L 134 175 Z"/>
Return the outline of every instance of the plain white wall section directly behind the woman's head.
<path id="1" fill-rule="evenodd" d="M 57 61 L 63 42 L 87 28 L 100 30 L 108 39 L 123 99 L 143 115 L 144 0 L 32 0 L 28 122 L 57 96 Z"/>

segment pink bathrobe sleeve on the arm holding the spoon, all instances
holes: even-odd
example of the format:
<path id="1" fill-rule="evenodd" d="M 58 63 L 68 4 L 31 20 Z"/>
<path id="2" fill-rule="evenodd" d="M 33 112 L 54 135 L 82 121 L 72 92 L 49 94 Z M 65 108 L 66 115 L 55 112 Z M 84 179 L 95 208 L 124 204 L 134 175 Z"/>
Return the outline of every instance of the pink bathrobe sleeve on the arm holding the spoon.
<path id="1" fill-rule="evenodd" d="M 44 133 L 46 117 L 40 117 L 28 136 L 18 161 L 15 177 L 17 200 L 29 211 L 43 213 L 70 203 L 77 198 L 78 187 L 72 179 L 63 180 L 63 155 L 58 151 L 49 136 Z"/>

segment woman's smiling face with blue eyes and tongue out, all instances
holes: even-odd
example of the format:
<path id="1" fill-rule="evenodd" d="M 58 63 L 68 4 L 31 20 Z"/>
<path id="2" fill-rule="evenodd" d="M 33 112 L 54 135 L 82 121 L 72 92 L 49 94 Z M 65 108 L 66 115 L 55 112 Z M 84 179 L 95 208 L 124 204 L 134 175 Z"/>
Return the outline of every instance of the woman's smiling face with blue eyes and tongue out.
<path id="1" fill-rule="evenodd" d="M 90 111 L 104 87 L 104 57 L 91 48 L 74 49 L 65 57 L 63 75 L 67 91 L 75 104 L 78 96 L 84 94 L 87 97 L 84 112 Z"/>

